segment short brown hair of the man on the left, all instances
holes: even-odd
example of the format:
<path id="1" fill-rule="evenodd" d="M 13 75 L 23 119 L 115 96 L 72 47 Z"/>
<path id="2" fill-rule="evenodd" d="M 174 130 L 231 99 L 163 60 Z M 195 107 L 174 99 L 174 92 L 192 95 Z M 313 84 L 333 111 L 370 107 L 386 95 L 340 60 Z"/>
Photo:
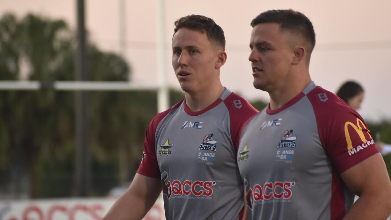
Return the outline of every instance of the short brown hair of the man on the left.
<path id="1" fill-rule="evenodd" d="M 202 33 L 206 32 L 206 36 L 209 41 L 216 42 L 221 45 L 223 50 L 225 50 L 225 37 L 224 31 L 222 28 L 213 21 L 212 18 L 208 18 L 203 15 L 188 15 L 182 18 L 179 18 L 175 21 L 174 35 L 180 28 L 188 28 L 192 30 L 201 31 Z M 173 36 L 174 36 L 173 35 Z"/>

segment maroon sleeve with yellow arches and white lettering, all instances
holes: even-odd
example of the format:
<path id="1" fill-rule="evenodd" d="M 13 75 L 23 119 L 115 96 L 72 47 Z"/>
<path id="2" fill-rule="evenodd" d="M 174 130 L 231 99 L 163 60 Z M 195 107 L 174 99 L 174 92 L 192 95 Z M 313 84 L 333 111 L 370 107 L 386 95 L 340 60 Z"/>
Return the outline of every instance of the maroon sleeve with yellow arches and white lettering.
<path id="1" fill-rule="evenodd" d="M 364 119 L 339 97 L 321 87 L 307 97 L 323 148 L 339 173 L 379 152 Z"/>

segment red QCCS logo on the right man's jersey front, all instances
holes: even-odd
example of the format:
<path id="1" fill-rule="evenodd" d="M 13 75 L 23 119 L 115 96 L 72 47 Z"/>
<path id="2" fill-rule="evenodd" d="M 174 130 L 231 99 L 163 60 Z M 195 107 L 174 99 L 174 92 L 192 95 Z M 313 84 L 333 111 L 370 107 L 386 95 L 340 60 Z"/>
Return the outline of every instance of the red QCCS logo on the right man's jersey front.
<path id="1" fill-rule="evenodd" d="M 295 185 L 295 182 L 267 182 L 263 186 L 256 184 L 246 192 L 247 204 L 252 209 L 252 202 L 271 199 L 289 199 L 292 197 L 291 188 Z"/>

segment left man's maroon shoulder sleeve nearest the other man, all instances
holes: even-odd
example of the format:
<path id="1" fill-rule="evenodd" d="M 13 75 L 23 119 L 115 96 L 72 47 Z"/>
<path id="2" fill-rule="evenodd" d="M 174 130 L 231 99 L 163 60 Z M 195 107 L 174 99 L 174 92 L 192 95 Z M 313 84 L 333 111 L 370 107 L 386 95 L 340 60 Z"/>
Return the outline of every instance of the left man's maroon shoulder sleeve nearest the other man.
<path id="1" fill-rule="evenodd" d="M 258 113 L 258 110 L 246 99 L 233 92 L 224 99 L 224 104 L 227 106 L 230 114 L 231 138 L 233 146 L 237 151 L 242 127 Z"/>

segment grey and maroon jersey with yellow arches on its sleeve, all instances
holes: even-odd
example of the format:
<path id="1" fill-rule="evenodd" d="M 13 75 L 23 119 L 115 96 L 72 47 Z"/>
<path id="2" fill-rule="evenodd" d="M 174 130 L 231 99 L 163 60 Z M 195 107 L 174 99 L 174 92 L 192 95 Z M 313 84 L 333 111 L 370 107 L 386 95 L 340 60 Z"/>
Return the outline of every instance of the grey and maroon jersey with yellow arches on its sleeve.
<path id="1" fill-rule="evenodd" d="M 354 195 L 340 174 L 377 152 L 361 116 L 311 82 L 242 131 L 237 160 L 249 219 L 342 219 Z"/>

